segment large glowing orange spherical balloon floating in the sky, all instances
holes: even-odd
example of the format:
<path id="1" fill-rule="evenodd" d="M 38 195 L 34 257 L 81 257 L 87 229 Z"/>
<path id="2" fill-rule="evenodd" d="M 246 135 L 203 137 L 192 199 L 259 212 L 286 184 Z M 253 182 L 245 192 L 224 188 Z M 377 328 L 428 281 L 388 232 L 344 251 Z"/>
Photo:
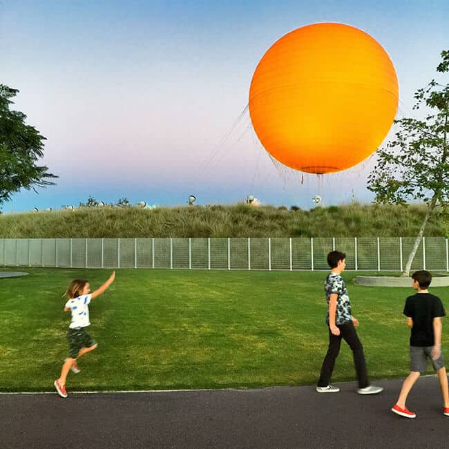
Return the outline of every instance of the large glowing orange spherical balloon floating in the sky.
<path id="1" fill-rule="evenodd" d="M 352 26 L 315 23 L 281 37 L 260 59 L 249 114 L 279 162 L 331 173 L 376 151 L 398 100 L 396 71 L 376 40 Z"/>

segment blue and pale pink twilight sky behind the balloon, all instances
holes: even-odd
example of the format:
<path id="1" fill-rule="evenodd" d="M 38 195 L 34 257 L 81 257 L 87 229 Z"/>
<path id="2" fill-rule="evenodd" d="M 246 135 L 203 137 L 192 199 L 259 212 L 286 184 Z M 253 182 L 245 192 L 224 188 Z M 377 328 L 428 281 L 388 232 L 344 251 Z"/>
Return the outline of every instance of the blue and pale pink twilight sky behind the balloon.
<path id="1" fill-rule="evenodd" d="M 220 4 L 219 4 L 220 3 Z M 22 190 L 3 213 L 77 206 L 89 196 L 159 206 L 314 207 L 370 202 L 375 156 L 318 177 L 272 162 L 251 127 L 258 61 L 300 26 L 338 22 L 367 32 L 392 59 L 398 116 L 437 77 L 449 44 L 449 2 L 0 0 L 0 84 L 46 137 L 39 164 L 57 185 Z M 387 137 L 388 138 L 388 137 Z"/>

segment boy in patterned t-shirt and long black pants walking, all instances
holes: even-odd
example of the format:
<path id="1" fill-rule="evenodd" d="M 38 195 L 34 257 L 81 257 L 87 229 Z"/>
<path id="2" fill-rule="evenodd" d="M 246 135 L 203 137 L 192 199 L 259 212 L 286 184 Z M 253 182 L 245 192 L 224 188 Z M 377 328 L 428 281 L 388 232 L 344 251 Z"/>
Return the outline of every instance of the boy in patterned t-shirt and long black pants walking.
<path id="1" fill-rule="evenodd" d="M 321 367 L 320 379 L 316 385 L 318 393 L 339 392 L 340 388 L 329 385 L 335 360 L 340 352 L 341 339 L 350 345 L 354 356 L 357 378 L 359 379 L 359 394 L 380 393 L 383 388 L 370 385 L 367 376 L 365 354 L 354 326 L 359 321 L 351 314 L 350 297 L 347 294 L 345 281 L 341 277 L 346 267 L 346 254 L 341 251 L 331 251 L 327 254 L 327 263 L 331 272 L 325 280 L 325 293 L 328 304 L 326 323 L 329 326 L 329 347 Z"/>

